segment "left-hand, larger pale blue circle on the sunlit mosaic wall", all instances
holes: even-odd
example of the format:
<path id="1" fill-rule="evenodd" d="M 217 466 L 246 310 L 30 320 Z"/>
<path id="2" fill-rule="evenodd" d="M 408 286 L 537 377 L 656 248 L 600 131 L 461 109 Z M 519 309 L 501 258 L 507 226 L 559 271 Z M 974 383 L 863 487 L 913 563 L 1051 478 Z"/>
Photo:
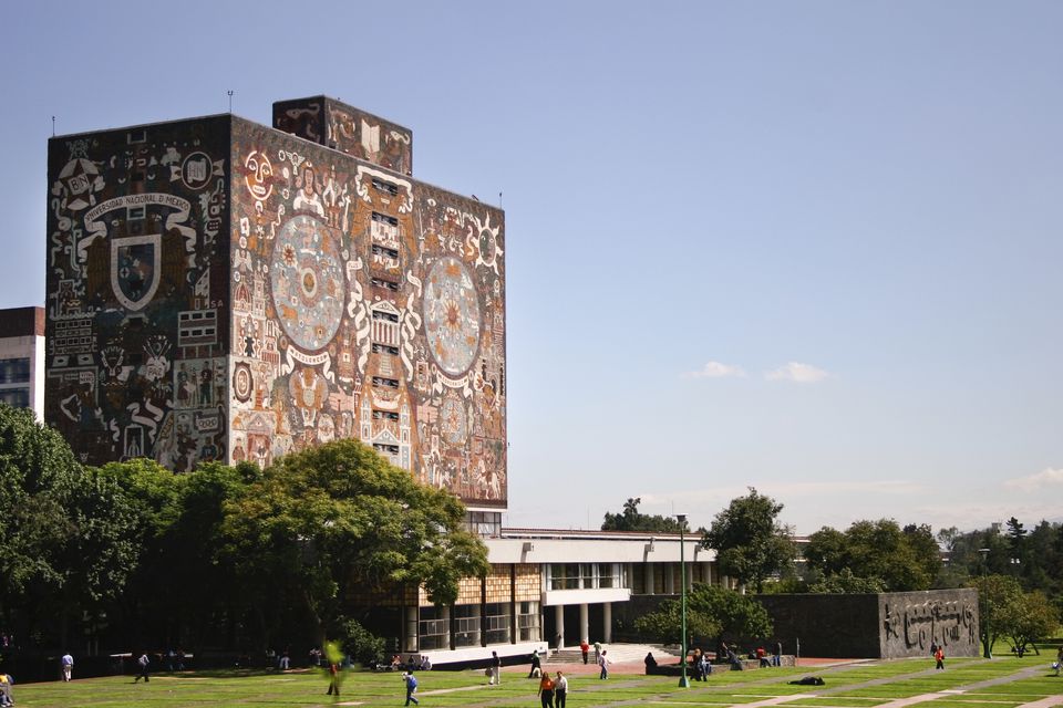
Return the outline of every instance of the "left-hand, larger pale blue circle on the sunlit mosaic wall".
<path id="1" fill-rule="evenodd" d="M 343 317 L 343 262 L 336 240 L 311 217 L 295 217 L 274 243 L 269 270 L 280 326 L 296 346 L 320 350 Z"/>

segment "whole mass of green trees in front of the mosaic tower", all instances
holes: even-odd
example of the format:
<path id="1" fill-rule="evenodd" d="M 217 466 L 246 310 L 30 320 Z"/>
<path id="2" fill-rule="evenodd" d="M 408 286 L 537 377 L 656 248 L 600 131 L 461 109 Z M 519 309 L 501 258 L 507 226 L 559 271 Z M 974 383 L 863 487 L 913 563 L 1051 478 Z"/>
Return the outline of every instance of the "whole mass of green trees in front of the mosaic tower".
<path id="1" fill-rule="evenodd" d="M 353 594 L 412 584 L 451 604 L 488 572 L 464 520 L 354 440 L 266 469 L 94 468 L 0 405 L 0 633 L 24 652 L 374 646 Z"/>

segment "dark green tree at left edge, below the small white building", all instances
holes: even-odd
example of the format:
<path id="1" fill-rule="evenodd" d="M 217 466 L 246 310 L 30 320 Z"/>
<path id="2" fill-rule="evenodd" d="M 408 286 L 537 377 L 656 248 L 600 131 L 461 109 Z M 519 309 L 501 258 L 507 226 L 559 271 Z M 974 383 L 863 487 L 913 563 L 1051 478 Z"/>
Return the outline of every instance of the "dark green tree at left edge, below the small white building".
<path id="1" fill-rule="evenodd" d="M 72 617 L 121 594 L 136 564 L 122 489 L 83 469 L 30 410 L 0 404 L 0 623 L 66 644 Z"/>

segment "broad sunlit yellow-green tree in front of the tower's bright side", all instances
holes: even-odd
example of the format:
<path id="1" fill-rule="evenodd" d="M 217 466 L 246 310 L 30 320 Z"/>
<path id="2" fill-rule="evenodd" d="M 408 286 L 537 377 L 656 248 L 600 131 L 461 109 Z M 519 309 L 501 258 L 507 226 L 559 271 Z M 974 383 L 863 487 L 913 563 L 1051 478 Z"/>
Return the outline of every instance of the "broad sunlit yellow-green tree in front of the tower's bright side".
<path id="1" fill-rule="evenodd" d="M 280 458 L 227 502 L 225 555 L 245 586 L 289 593 L 320 639 L 354 589 L 423 585 L 433 602 L 452 604 L 462 577 L 489 571 L 464 520 L 453 494 L 341 440 Z"/>

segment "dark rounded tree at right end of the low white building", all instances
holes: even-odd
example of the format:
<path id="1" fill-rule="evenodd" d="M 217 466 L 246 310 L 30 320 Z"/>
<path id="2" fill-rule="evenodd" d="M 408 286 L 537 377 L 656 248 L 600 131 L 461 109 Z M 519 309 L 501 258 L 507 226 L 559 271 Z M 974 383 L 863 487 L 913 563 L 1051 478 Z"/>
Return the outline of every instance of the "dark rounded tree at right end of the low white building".
<path id="1" fill-rule="evenodd" d="M 784 572 L 797 554 L 789 529 L 780 523 L 783 504 L 750 487 L 716 514 L 701 544 L 716 551 L 720 572 L 757 592 L 764 581 Z"/>

